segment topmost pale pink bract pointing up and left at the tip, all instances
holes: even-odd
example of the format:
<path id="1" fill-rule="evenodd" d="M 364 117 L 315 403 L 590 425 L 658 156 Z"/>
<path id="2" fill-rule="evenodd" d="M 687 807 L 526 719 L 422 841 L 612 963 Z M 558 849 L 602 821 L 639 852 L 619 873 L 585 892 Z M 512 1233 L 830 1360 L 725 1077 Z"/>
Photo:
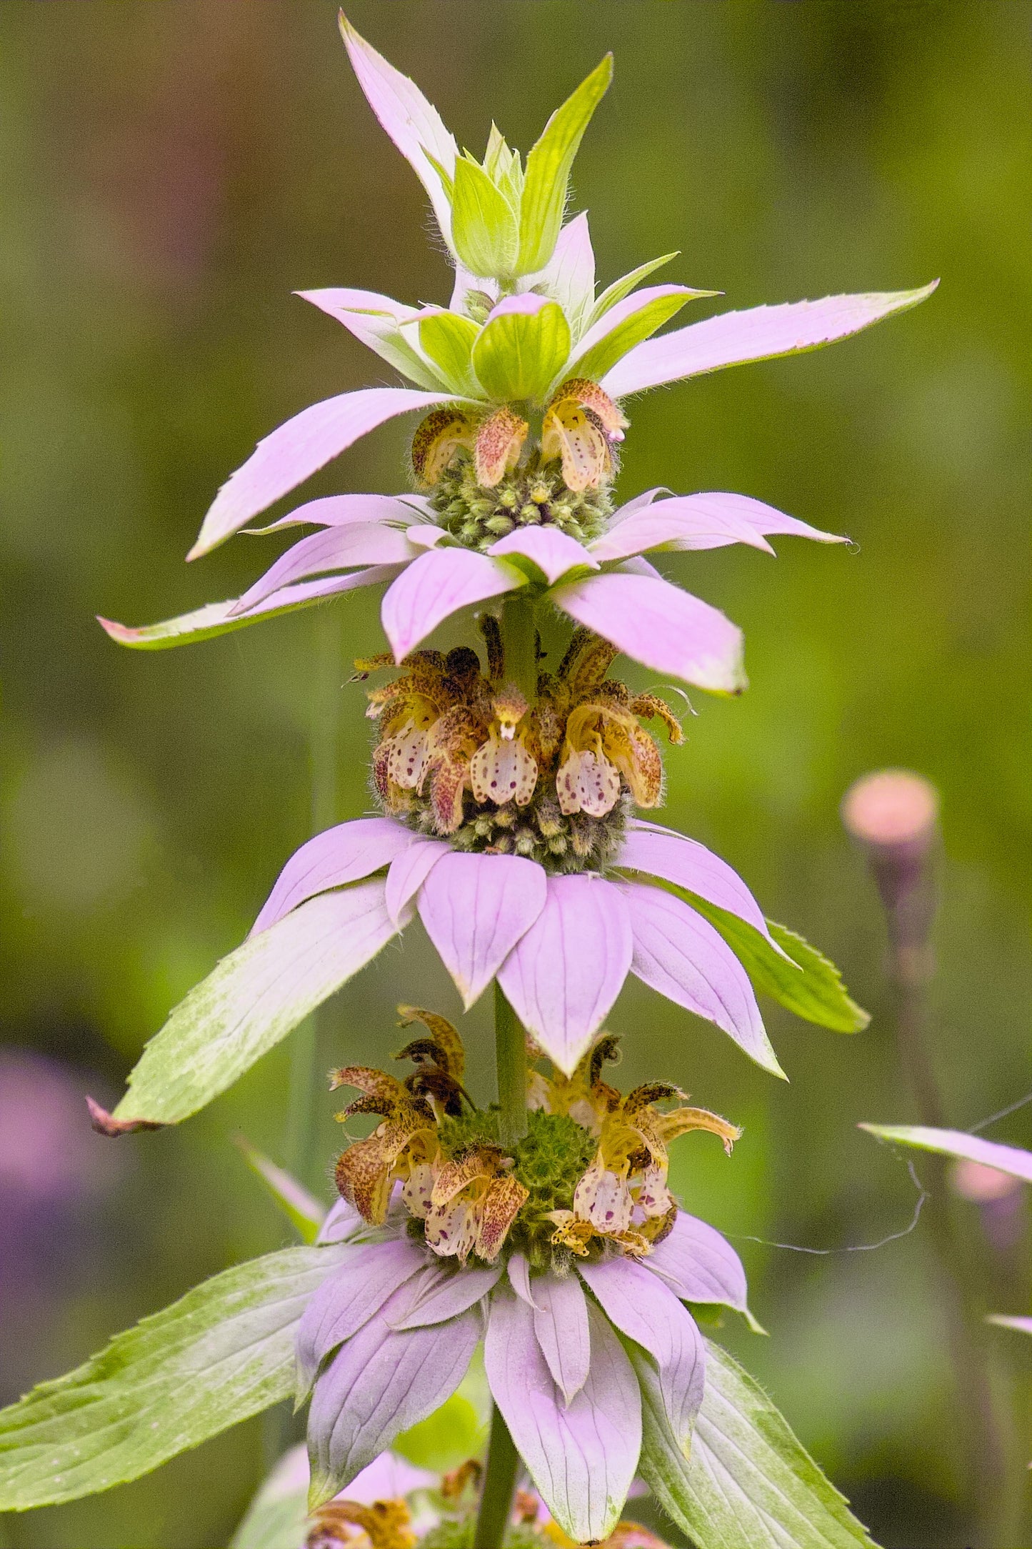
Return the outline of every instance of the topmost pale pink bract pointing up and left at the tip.
<path id="1" fill-rule="evenodd" d="M 402 76 L 401 70 L 395 70 L 382 54 L 378 54 L 343 15 L 340 15 L 340 33 L 365 101 L 427 191 L 441 234 L 450 245 L 452 201 L 433 163 L 436 161 L 449 178 L 455 177 L 458 153 L 455 136 L 444 127 L 441 115 L 432 102 L 427 102 L 415 81 Z"/>

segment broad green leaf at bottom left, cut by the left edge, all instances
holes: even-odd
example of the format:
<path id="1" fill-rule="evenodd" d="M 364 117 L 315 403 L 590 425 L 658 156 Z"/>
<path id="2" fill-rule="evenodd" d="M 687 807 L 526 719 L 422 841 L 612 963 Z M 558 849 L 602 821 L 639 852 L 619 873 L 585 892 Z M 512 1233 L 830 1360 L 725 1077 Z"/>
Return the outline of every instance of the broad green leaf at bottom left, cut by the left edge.
<path id="1" fill-rule="evenodd" d="M 0 1510 L 108 1490 L 288 1397 L 294 1331 L 345 1244 L 227 1269 L 0 1411 Z"/>

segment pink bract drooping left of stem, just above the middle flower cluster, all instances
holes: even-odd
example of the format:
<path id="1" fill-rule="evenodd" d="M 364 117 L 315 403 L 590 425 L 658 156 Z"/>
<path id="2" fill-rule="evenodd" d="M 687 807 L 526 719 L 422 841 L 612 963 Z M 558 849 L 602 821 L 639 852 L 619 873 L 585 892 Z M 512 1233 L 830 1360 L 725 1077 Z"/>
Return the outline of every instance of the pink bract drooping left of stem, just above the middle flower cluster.
<path id="1" fill-rule="evenodd" d="M 441 548 L 419 555 L 387 590 L 381 607 L 384 634 L 395 661 L 427 638 L 461 607 L 484 603 L 526 586 L 526 576 L 503 559 L 473 555 L 469 548 Z"/>

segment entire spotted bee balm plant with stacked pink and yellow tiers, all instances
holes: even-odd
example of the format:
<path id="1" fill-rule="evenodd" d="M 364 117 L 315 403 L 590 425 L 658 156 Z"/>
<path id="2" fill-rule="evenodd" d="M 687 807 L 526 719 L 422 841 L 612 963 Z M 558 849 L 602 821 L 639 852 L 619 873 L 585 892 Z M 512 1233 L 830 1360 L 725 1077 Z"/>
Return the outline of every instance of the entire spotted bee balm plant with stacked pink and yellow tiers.
<path id="1" fill-rule="evenodd" d="M 370 641 L 356 663 L 381 815 L 288 860 L 248 940 L 172 1011 L 114 1112 L 93 1104 L 93 1117 L 108 1134 L 190 1117 L 415 914 L 466 1008 L 494 984 L 497 1100 L 467 1092 L 452 1022 L 402 1007 L 416 1032 L 398 1073 L 345 1064 L 331 1077 L 357 1094 L 342 1120 L 374 1125 L 348 1134 L 337 1204 L 323 1213 L 260 1162 L 303 1245 L 226 1270 L 6 1410 L 0 1509 L 133 1479 L 294 1394 L 309 1405 L 316 1515 L 289 1541 L 410 1549 L 404 1492 L 370 1501 L 368 1470 L 449 1400 L 483 1346 L 486 1462 L 450 1496 L 441 1484 L 435 1499 L 450 1504 L 427 1544 L 656 1543 L 622 1521 L 636 1481 L 699 1549 L 866 1544 L 764 1393 L 699 1329 L 719 1307 L 758 1326 L 736 1253 L 671 1194 L 668 1151 L 704 1143 L 682 1139 L 702 1131 L 730 1152 L 738 1129 L 692 1106 L 668 1072 L 610 1084 L 607 1025 L 630 973 L 781 1075 L 757 991 L 840 1032 L 866 1021 L 730 866 L 641 816 L 662 801 L 661 744 L 681 742 L 681 725 L 658 691 L 617 675 L 622 655 L 710 692 L 746 686 L 738 627 L 665 579 L 659 555 L 840 539 L 740 494 L 620 502 L 614 485 L 636 393 L 815 349 L 931 287 L 661 333 L 713 293 L 644 283 L 671 256 L 597 291 L 586 215 L 566 220 L 608 57 L 526 160 L 494 125 L 477 160 L 340 26 L 430 198 L 452 297 L 302 293 L 407 386 L 328 398 L 268 435 L 220 489 L 190 558 L 398 415 L 416 415 L 412 488 L 302 503 L 265 531 L 306 536 L 237 599 L 147 627 L 102 623 L 161 649 L 382 586 L 388 649 Z M 514 1506 L 521 1479 L 532 1493 Z M 248 1532 L 244 1549 L 258 1541 Z"/>

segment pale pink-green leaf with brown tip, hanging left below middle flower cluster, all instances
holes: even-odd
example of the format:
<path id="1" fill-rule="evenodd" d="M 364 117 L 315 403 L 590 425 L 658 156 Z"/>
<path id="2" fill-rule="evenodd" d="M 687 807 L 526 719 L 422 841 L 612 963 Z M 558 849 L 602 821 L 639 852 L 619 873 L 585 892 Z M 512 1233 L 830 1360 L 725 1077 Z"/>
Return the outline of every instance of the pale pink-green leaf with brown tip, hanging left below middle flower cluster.
<path id="1" fill-rule="evenodd" d="M 218 963 L 150 1039 L 116 1120 L 176 1125 L 249 1070 L 396 934 L 382 881 L 309 898 Z"/>

